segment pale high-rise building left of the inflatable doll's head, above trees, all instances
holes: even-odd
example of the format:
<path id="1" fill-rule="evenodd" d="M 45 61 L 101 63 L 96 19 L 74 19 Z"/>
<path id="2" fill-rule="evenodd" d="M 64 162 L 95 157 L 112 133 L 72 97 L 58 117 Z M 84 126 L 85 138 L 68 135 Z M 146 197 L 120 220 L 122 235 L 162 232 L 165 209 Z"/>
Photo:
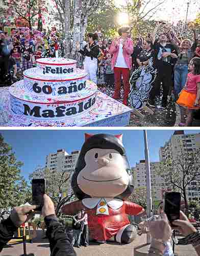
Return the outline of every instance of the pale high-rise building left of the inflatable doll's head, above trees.
<path id="1" fill-rule="evenodd" d="M 46 156 L 45 167 L 49 170 L 57 170 L 58 172 L 72 172 L 79 157 L 79 151 L 73 151 L 68 154 L 65 150 L 57 150 Z"/>

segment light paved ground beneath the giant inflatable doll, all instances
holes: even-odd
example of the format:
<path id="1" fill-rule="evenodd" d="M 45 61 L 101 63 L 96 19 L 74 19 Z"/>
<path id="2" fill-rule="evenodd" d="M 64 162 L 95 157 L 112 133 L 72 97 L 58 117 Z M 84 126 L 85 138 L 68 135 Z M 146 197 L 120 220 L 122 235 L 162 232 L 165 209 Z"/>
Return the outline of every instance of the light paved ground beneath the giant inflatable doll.
<path id="1" fill-rule="evenodd" d="M 41 230 L 37 230 L 37 238 L 33 239 L 33 244 L 27 243 L 27 253 L 34 253 L 34 256 L 49 256 L 49 244 L 46 239 L 42 239 Z M 147 254 L 148 246 L 146 236 L 138 236 L 137 239 L 128 245 L 119 245 L 116 243 L 107 243 L 98 245 L 91 243 L 88 247 L 74 248 L 77 256 L 144 256 Z M 135 250 L 135 252 L 134 252 Z M 176 246 L 175 250 L 178 256 L 196 256 L 196 253 L 191 245 Z M 1 256 L 19 256 L 23 253 L 23 245 L 9 245 L 2 251 Z M 32 255 L 30 255 L 32 256 Z"/>

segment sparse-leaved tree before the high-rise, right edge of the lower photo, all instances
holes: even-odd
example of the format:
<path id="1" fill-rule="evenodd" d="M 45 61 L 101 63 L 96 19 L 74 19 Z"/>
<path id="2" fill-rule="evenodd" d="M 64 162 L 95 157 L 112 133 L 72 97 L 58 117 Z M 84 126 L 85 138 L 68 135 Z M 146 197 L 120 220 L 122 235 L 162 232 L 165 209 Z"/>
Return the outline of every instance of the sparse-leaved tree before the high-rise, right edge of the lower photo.
<path id="1" fill-rule="evenodd" d="M 185 144 L 181 144 L 181 141 L 179 143 L 180 147 L 174 149 L 171 159 L 161 162 L 158 174 L 163 178 L 166 187 L 180 191 L 187 209 L 188 186 L 192 185 L 195 190 L 199 187 L 200 150 L 190 151 L 190 148 L 184 147 Z"/>

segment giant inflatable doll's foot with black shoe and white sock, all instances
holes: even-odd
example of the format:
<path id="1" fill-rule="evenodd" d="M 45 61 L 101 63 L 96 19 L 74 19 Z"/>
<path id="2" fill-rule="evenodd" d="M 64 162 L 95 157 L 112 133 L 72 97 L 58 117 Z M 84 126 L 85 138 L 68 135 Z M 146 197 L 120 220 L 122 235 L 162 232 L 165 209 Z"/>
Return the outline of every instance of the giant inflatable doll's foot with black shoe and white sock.
<path id="1" fill-rule="evenodd" d="M 116 234 L 116 242 L 121 244 L 129 244 L 137 237 L 137 230 L 133 225 L 122 227 Z"/>

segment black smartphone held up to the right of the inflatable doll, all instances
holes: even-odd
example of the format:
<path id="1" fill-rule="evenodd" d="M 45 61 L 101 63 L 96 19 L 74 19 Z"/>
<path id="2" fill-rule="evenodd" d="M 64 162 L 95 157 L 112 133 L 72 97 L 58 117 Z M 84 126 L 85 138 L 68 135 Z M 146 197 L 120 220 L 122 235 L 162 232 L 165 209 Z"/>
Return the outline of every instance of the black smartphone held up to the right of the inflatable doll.
<path id="1" fill-rule="evenodd" d="M 180 219 L 181 194 L 179 192 L 166 192 L 164 199 L 164 212 L 169 222 Z"/>

